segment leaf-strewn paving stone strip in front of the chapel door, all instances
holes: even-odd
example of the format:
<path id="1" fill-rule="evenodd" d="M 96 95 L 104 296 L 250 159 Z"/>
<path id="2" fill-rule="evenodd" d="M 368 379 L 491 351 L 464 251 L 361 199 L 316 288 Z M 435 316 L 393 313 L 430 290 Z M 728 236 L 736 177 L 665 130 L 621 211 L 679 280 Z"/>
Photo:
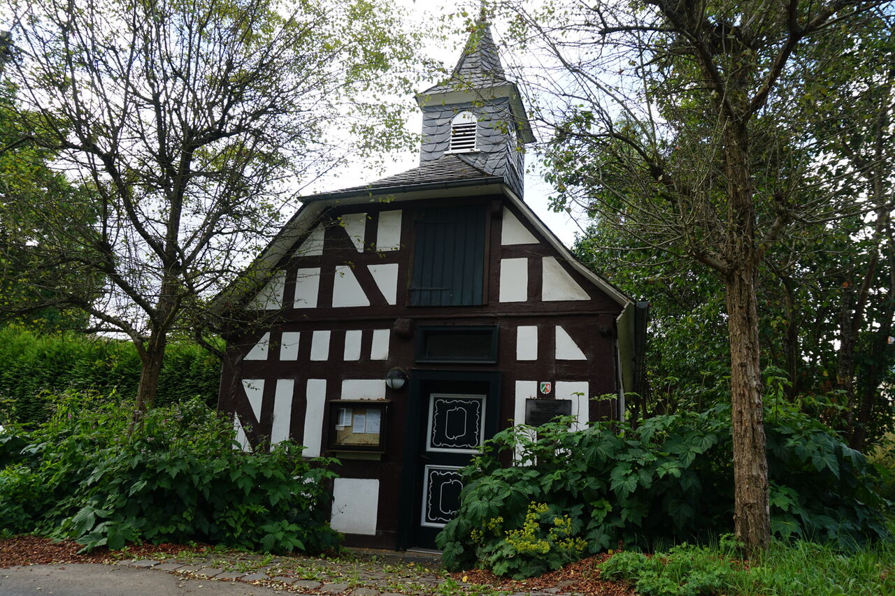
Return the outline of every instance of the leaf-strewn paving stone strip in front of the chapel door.
<path id="1" fill-rule="evenodd" d="M 124 559 L 115 565 L 165 571 L 221 582 L 263 585 L 283 592 L 320 596 L 418 596 L 422 594 L 506 594 L 499 588 L 456 582 L 431 557 L 407 560 L 393 554 L 367 555 L 357 560 L 325 558 L 269 558 L 257 555 L 175 557 L 162 560 Z M 512 596 L 574 596 L 561 588 L 516 592 Z"/>

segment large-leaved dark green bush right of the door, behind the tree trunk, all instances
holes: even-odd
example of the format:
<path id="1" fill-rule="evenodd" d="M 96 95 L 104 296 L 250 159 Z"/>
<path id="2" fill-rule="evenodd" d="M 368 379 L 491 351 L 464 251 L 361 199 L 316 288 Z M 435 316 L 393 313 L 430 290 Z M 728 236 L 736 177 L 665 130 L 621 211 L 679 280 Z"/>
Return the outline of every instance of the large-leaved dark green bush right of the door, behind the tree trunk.
<path id="1" fill-rule="evenodd" d="M 524 426 L 499 432 L 465 468 L 460 509 L 437 539 L 449 569 L 479 564 L 534 575 L 536 566 L 505 569 L 494 557 L 511 552 L 509 532 L 524 527 L 532 503 L 567 515 L 568 538 L 586 545 L 581 554 L 618 541 L 649 549 L 732 530 L 728 406 L 657 416 L 636 429 L 600 422 L 569 432 L 569 421 L 539 427 L 536 439 Z M 766 432 L 775 535 L 847 547 L 886 535 L 864 456 L 795 412 L 776 412 Z M 514 455 L 523 464 L 504 467 Z M 488 531 L 495 525 L 499 532 Z"/>

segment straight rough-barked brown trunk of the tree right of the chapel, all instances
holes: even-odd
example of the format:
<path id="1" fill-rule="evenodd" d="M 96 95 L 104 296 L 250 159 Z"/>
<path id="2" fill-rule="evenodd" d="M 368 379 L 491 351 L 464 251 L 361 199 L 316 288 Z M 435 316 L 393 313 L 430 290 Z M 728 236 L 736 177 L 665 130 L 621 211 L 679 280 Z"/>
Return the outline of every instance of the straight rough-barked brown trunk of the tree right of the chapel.
<path id="1" fill-rule="evenodd" d="M 771 537 L 768 461 L 765 454 L 762 374 L 754 267 L 727 280 L 730 334 L 730 406 L 733 416 L 734 526 L 748 553 L 767 547 Z"/>

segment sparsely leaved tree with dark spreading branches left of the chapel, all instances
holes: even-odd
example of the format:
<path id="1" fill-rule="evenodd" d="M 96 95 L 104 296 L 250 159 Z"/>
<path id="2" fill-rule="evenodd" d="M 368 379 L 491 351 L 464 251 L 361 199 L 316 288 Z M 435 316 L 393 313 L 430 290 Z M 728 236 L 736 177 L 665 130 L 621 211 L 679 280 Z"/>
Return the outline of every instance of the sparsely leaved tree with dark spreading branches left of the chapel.
<path id="1" fill-rule="evenodd" d="M 278 230 L 295 189 L 349 151 L 369 154 L 373 140 L 380 149 L 405 140 L 399 106 L 381 99 L 408 82 L 415 38 L 366 0 L 6 8 L 21 55 L 6 71 L 20 89 L 17 125 L 39 131 L 55 167 L 93 189 L 90 217 L 54 193 L 17 206 L 44 216 L 40 263 L 72 243 L 89 250 L 55 267 L 104 277 L 102 292 L 60 288 L 52 300 L 89 312 L 97 331 L 131 337 L 142 410 L 168 336 L 207 320 L 209 295 Z M 391 131 L 376 135 L 382 123 Z"/>

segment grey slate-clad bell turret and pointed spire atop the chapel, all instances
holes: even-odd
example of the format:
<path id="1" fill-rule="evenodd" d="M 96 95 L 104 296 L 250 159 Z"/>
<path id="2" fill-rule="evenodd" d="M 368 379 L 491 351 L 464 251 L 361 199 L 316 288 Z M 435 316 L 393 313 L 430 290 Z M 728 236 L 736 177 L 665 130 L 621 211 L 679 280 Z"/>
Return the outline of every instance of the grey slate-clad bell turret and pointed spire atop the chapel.
<path id="1" fill-rule="evenodd" d="M 534 140 L 516 83 L 507 80 L 484 13 L 447 81 L 416 96 L 422 108 L 420 162 L 450 154 L 489 175 L 501 176 L 523 196 L 524 143 Z M 473 149 L 451 148 L 457 115 L 477 121 Z"/>

